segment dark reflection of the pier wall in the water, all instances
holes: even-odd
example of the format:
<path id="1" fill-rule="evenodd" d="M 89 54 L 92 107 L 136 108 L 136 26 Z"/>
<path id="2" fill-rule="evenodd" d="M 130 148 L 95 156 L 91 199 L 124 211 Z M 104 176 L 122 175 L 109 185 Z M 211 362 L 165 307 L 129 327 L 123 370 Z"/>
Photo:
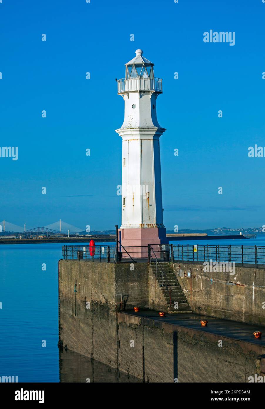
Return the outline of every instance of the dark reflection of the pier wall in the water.
<path id="1" fill-rule="evenodd" d="M 91 360 L 84 355 L 73 351 L 60 352 L 60 382 L 142 382 L 134 376 L 124 372 L 118 373 L 117 369 L 111 368 L 101 362 Z"/>

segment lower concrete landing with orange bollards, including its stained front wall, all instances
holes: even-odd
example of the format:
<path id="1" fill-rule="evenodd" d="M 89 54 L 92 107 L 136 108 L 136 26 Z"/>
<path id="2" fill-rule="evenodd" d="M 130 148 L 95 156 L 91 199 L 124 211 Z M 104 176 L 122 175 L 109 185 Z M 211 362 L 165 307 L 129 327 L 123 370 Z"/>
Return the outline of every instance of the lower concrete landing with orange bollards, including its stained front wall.
<path id="1" fill-rule="evenodd" d="M 254 339 L 256 326 L 150 310 L 121 312 L 118 326 L 119 369 L 130 368 L 145 382 L 248 382 L 265 371 L 265 340 Z"/>

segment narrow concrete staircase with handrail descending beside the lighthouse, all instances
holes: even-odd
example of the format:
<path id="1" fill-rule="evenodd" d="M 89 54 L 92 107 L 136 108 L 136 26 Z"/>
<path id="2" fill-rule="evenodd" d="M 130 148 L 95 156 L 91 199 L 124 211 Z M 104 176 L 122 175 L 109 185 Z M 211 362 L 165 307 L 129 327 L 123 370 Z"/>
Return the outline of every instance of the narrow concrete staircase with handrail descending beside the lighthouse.
<path id="1" fill-rule="evenodd" d="M 160 287 L 160 291 L 162 291 L 164 299 L 166 301 L 167 312 L 169 314 L 180 314 L 180 313 L 189 313 L 192 312 L 185 294 L 180 287 L 178 279 L 176 278 L 175 273 L 173 272 L 170 263 L 168 262 L 159 262 L 157 265 L 156 270 L 156 263 L 151 262 L 150 264 L 151 270 L 153 272 L 154 277 L 156 278 L 156 282 Z M 162 270 L 164 279 L 162 279 Z M 169 297 L 169 286 L 171 288 L 171 303 Z M 178 308 L 175 307 L 175 302 L 178 302 Z"/>

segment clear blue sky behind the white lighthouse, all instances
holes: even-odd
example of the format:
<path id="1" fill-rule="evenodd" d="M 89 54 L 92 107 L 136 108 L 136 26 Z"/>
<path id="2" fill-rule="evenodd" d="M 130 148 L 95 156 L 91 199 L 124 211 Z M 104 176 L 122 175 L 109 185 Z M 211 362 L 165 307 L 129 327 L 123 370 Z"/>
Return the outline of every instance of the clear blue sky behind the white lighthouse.
<path id="1" fill-rule="evenodd" d="M 122 139 L 114 130 L 124 102 L 115 78 L 142 48 L 163 79 L 167 229 L 265 224 L 265 157 L 247 155 L 265 146 L 264 20 L 262 0 L 2 0 L 0 146 L 18 146 L 18 160 L 0 158 L 0 220 L 120 225 Z M 234 31 L 235 45 L 204 43 L 210 29 Z"/>

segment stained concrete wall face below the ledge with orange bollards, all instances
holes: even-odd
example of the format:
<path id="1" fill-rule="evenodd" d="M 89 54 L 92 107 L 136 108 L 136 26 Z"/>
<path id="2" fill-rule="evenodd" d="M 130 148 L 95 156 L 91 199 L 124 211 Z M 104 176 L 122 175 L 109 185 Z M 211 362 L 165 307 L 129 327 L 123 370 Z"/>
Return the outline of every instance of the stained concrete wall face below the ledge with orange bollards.
<path id="1" fill-rule="evenodd" d="M 145 382 L 248 382 L 261 373 L 263 346 L 124 312 L 118 326 L 120 370 Z"/>

